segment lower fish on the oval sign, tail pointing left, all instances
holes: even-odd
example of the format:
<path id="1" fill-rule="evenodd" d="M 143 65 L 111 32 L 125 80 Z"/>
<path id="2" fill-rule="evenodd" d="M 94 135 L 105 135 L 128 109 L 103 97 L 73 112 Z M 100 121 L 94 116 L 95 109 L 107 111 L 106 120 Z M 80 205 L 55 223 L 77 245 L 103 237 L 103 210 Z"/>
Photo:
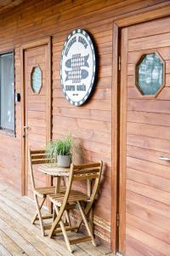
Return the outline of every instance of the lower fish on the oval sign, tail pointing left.
<path id="1" fill-rule="evenodd" d="M 65 81 L 72 80 L 73 83 L 80 83 L 82 79 L 88 78 L 88 71 L 86 69 L 81 69 L 77 67 L 77 69 L 72 69 L 71 71 L 66 71 Z"/>

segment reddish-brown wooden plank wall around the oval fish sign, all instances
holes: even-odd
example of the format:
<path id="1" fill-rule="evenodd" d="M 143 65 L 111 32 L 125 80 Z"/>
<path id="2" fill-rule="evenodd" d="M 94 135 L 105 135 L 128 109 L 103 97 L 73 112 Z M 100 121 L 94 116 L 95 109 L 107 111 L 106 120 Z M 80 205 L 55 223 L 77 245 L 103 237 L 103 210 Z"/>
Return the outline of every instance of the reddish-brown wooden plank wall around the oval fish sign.
<path id="1" fill-rule="evenodd" d="M 0 15 L 0 52 L 15 50 L 15 89 L 20 92 L 20 44 L 52 36 L 53 138 L 71 131 L 84 161 L 104 160 L 96 234 L 111 242 L 111 83 L 113 20 L 164 6 L 165 0 L 30 0 Z M 81 27 L 92 34 L 99 55 L 98 83 L 90 101 L 73 107 L 59 83 L 59 56 L 65 38 Z M 20 190 L 21 103 L 16 103 L 16 137 L 0 132 L 1 178 Z M 114 150 L 114 148 L 113 148 Z M 113 170 L 114 171 L 114 170 Z M 100 226 L 100 228 L 99 228 Z M 103 227 L 103 228 L 102 228 Z"/>

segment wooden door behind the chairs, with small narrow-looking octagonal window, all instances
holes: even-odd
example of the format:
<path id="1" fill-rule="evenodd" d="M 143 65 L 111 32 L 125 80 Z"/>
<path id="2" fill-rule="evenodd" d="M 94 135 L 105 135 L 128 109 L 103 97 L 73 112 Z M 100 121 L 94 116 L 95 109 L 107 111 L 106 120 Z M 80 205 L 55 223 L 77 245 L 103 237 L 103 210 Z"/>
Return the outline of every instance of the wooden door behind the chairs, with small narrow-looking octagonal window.
<path id="1" fill-rule="evenodd" d="M 38 43 L 37 43 L 38 44 Z M 27 168 L 27 152 L 44 149 L 51 138 L 51 83 L 49 45 L 40 44 L 24 50 L 25 110 L 23 137 L 25 140 L 25 194 L 31 196 L 31 178 Z M 48 183 L 40 172 L 35 172 L 37 186 Z"/>

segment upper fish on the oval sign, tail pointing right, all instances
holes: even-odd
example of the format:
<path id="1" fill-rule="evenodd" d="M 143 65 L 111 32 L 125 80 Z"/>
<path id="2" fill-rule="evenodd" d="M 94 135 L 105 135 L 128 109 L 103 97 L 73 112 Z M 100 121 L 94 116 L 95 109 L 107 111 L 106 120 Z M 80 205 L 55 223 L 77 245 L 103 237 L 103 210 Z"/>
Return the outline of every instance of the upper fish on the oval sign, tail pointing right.
<path id="1" fill-rule="evenodd" d="M 88 57 L 89 55 L 86 55 L 86 56 L 81 56 L 81 54 L 72 55 L 71 59 L 68 59 L 67 61 L 65 61 L 65 67 L 72 68 L 72 69 L 77 67 L 89 67 Z"/>

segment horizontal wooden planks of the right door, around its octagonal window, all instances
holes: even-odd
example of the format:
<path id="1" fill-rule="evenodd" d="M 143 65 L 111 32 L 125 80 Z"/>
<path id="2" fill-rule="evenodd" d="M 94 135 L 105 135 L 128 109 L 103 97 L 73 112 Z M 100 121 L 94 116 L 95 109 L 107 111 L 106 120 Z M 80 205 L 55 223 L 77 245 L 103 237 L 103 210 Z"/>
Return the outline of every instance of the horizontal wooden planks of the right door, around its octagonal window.
<path id="1" fill-rule="evenodd" d="M 160 160 L 170 152 L 169 21 L 168 17 L 127 28 L 127 256 L 170 252 L 169 162 Z M 165 61 L 166 82 L 158 96 L 147 98 L 135 84 L 135 67 L 143 54 L 156 51 Z"/>

